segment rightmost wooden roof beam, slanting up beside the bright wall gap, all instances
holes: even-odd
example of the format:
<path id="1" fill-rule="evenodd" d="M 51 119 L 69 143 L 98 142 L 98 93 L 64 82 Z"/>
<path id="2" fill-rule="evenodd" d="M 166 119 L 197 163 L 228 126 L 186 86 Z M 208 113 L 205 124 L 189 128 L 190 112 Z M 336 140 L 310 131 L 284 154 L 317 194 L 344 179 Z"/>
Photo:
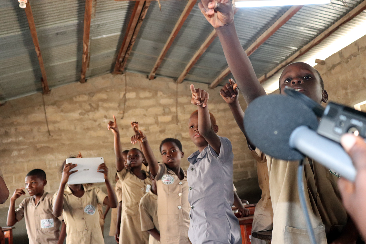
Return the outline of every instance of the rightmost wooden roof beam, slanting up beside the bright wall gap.
<path id="1" fill-rule="evenodd" d="M 366 0 L 357 5 L 353 10 L 348 12 L 348 14 L 344 15 L 340 20 L 338 20 L 336 23 L 334 23 L 332 26 L 330 26 L 328 29 L 323 31 L 320 35 L 315 37 L 311 42 L 303 46 L 300 50 L 298 50 L 294 55 L 289 57 L 286 61 L 279 64 L 276 68 L 268 72 L 267 74 L 262 75 L 258 80 L 260 83 L 265 82 L 270 77 L 275 75 L 278 71 L 280 71 L 282 68 L 284 68 L 286 65 L 290 64 L 292 61 L 303 55 L 304 53 L 308 52 L 311 48 L 318 45 L 321 41 L 323 41 L 325 38 L 327 38 L 330 34 L 338 30 L 338 28 L 351 19 L 353 19 L 355 16 L 360 14 L 363 10 L 366 9 Z"/>

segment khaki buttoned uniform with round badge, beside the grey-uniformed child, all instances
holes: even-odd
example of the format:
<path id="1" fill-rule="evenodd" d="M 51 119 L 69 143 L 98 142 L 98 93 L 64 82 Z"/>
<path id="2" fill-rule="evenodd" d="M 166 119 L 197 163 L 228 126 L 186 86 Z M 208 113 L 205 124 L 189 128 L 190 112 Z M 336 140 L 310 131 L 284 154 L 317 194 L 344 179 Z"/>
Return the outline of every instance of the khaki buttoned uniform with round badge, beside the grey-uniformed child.
<path id="1" fill-rule="evenodd" d="M 155 176 L 158 192 L 158 220 L 161 244 L 190 244 L 187 172 L 180 168 L 184 179 L 164 163 L 159 163 Z"/>

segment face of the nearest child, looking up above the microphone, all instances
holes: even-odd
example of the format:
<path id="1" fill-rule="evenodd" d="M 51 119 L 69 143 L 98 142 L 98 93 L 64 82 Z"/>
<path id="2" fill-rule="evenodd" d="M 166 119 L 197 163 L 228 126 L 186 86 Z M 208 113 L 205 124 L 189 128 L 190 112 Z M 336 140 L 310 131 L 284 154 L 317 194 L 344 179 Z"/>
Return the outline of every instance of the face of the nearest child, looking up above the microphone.
<path id="1" fill-rule="evenodd" d="M 281 74 L 280 84 L 282 94 L 285 94 L 285 86 L 289 86 L 319 104 L 328 101 L 328 94 L 322 89 L 318 74 L 309 64 L 299 62 L 287 65 Z"/>

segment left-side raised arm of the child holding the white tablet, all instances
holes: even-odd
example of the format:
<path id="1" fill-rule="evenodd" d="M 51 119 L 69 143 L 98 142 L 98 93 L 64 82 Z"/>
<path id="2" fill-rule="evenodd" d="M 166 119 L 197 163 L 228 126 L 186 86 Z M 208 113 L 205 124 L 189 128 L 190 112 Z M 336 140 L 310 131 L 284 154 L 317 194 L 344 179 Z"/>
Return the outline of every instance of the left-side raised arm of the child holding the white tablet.
<path id="1" fill-rule="evenodd" d="M 57 195 L 56 195 L 55 200 L 53 201 L 53 207 L 52 207 L 52 214 L 55 217 L 60 217 L 62 214 L 62 209 L 63 209 L 63 204 L 64 204 L 65 186 L 66 186 L 66 183 L 68 181 L 68 177 L 70 176 L 70 174 L 73 174 L 78 171 L 78 170 L 70 171 L 71 169 L 75 168 L 76 166 L 78 166 L 78 165 L 71 164 L 71 163 L 66 164 L 64 166 L 64 169 L 62 170 L 60 187 L 59 187 L 59 190 L 57 191 Z"/>

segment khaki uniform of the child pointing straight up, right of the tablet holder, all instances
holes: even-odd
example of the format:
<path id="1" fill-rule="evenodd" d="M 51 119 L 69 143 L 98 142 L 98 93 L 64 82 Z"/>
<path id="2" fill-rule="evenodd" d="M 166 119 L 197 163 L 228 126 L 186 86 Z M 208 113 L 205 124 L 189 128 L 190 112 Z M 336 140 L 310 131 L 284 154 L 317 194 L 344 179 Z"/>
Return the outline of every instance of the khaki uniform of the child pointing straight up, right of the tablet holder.
<path id="1" fill-rule="evenodd" d="M 117 172 L 122 181 L 122 216 L 119 244 L 147 244 L 149 233 L 141 231 L 139 203 L 143 195 L 150 190 L 149 176 L 139 179 L 129 170 Z M 146 191 L 147 189 L 147 191 Z"/>

